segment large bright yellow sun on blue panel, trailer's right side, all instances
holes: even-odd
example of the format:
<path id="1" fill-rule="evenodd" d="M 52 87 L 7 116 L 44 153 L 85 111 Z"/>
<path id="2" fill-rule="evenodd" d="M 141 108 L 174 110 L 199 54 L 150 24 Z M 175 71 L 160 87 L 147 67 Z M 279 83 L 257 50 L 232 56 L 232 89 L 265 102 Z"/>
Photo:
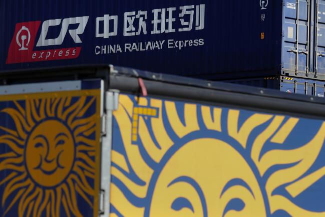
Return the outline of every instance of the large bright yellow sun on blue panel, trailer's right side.
<path id="1" fill-rule="evenodd" d="M 113 129 L 111 217 L 325 216 L 322 120 L 120 95 Z"/>

